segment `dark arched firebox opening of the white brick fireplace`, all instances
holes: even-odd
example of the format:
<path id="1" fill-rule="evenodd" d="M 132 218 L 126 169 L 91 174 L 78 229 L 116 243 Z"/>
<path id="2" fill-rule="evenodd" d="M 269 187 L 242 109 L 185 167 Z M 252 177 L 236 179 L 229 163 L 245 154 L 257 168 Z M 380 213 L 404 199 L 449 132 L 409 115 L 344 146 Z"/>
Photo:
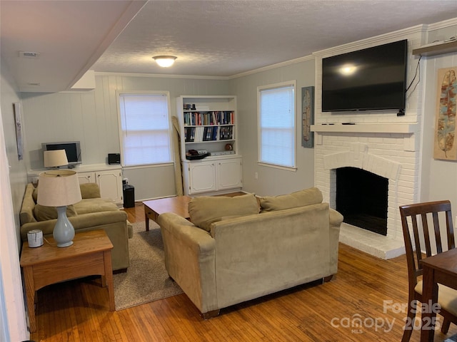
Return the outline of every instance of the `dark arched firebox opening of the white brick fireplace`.
<path id="1" fill-rule="evenodd" d="M 336 210 L 353 226 L 387 235 L 388 179 L 357 167 L 336 169 Z"/>

